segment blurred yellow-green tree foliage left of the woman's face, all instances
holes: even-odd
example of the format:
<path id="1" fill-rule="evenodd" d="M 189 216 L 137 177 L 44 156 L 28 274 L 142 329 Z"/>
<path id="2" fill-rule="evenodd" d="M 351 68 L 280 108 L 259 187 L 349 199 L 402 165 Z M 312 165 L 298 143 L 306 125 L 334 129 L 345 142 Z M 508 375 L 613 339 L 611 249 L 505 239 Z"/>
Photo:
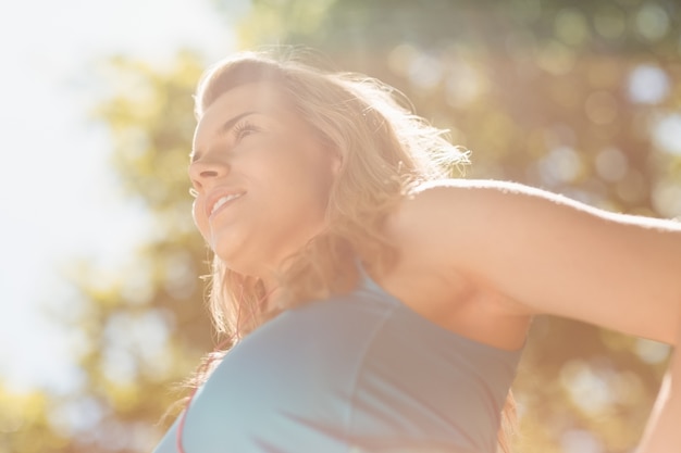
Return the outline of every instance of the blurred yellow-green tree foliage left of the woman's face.
<path id="1" fill-rule="evenodd" d="M 112 95 L 95 119 L 111 134 L 121 187 L 151 214 L 152 236 L 127 267 L 103 270 L 88 260 L 64 270 L 79 301 L 53 316 L 79 332 L 83 379 L 62 395 L 5 402 L 0 393 L 12 410 L 0 415 L 8 433 L 0 453 L 149 452 L 177 413 L 162 420 L 182 382 L 212 349 L 199 278 L 208 250 L 195 232 L 186 176 L 191 95 L 203 67 L 182 51 L 170 70 L 121 56 L 102 67 Z"/>

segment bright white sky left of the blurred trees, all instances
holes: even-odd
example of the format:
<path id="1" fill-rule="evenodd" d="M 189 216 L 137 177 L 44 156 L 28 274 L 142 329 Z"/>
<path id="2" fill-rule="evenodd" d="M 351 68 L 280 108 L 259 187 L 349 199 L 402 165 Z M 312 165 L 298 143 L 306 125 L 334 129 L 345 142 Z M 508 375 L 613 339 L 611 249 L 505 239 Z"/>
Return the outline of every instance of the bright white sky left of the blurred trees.
<path id="1" fill-rule="evenodd" d="M 0 5 L 0 381 L 70 387 L 76 338 L 45 310 L 73 300 L 57 267 L 96 256 L 113 268 L 145 230 L 144 213 L 116 192 L 106 130 L 88 119 L 102 96 L 96 61 L 124 52 L 163 64 L 185 46 L 208 61 L 234 50 L 211 0 Z"/>

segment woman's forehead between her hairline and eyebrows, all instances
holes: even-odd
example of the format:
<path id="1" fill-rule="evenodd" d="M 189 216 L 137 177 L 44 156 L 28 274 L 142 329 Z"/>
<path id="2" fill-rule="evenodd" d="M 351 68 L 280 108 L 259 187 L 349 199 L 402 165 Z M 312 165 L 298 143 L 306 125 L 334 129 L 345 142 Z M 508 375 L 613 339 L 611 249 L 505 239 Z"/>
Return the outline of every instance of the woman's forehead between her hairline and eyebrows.
<path id="1" fill-rule="evenodd" d="M 292 103 L 282 89 L 267 81 L 239 85 L 222 93 L 206 109 L 194 135 L 194 148 L 210 140 L 222 126 L 244 113 L 283 115 L 290 112 Z"/>

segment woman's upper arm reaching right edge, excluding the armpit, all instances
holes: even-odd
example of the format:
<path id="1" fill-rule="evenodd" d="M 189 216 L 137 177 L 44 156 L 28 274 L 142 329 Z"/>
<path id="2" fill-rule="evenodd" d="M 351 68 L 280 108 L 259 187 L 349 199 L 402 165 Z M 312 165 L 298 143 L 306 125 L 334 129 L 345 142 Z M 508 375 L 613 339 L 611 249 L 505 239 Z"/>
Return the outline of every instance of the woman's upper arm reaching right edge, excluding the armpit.
<path id="1" fill-rule="evenodd" d="M 681 224 L 493 181 L 433 187 L 412 204 L 423 246 L 515 310 L 674 341 Z"/>

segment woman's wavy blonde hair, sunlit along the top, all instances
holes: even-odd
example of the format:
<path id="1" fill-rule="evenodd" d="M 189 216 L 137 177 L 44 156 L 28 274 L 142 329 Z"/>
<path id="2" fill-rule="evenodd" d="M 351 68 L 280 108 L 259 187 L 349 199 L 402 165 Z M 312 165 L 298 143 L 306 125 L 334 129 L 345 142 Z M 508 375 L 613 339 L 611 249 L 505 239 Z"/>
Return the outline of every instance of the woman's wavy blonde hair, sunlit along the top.
<path id="1" fill-rule="evenodd" d="M 377 268 L 388 266 L 395 248 L 383 235 L 386 217 L 413 187 L 450 177 L 468 163 L 468 152 L 453 146 L 446 130 L 417 116 L 395 88 L 361 74 L 319 70 L 298 55 L 281 49 L 237 53 L 203 74 L 195 97 L 200 119 L 235 87 L 273 84 L 326 148 L 342 158 L 326 207 L 329 227 L 287 260 L 276 310 L 354 289 L 358 259 Z M 219 332 L 239 341 L 272 315 L 262 307 L 267 297 L 260 280 L 213 257 L 209 306 Z M 503 413 L 506 427 L 513 412 L 509 394 Z M 505 452 L 508 431 L 499 431 Z"/>

